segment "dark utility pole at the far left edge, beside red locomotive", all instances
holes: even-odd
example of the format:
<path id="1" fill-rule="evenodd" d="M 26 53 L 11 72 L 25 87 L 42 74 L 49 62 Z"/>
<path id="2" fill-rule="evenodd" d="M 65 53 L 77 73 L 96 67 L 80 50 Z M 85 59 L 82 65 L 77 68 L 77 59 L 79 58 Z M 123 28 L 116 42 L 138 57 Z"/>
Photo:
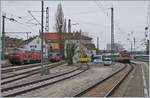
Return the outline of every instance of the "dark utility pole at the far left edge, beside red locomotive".
<path id="1" fill-rule="evenodd" d="M 2 60 L 5 59 L 5 18 L 6 16 L 2 16 Z"/>

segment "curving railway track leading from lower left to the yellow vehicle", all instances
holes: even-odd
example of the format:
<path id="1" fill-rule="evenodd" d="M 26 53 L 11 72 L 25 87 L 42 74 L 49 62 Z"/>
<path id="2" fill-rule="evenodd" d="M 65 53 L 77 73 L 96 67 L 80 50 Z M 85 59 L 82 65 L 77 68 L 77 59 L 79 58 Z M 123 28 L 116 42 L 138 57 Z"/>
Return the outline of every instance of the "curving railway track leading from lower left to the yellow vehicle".
<path id="1" fill-rule="evenodd" d="M 89 69 L 88 64 L 85 66 L 79 66 L 78 68 L 63 72 L 60 74 L 55 74 L 54 76 L 50 76 L 45 79 L 33 81 L 33 82 L 28 82 L 28 83 L 23 83 L 21 85 L 16 85 L 16 86 L 11 86 L 11 87 L 5 87 L 2 88 L 2 96 L 3 97 L 13 97 L 13 96 L 18 96 L 20 94 L 24 94 L 26 92 L 29 92 L 31 90 L 35 90 L 47 85 L 54 84 L 59 81 L 63 81 L 65 79 L 71 78 L 73 76 L 76 76 L 82 72 L 85 72 L 86 70 Z"/>

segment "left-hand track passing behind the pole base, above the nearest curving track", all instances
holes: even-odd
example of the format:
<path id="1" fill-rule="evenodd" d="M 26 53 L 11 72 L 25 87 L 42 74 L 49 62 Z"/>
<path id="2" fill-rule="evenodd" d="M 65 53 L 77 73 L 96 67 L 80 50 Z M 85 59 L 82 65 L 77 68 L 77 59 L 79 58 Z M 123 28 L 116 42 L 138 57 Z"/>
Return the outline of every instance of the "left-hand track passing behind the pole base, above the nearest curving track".
<path id="1" fill-rule="evenodd" d="M 57 63 L 53 63 L 53 64 L 48 64 L 46 65 L 49 69 L 55 68 L 61 64 L 64 64 L 65 62 L 57 62 Z M 20 70 L 18 71 L 18 73 L 16 74 L 10 74 L 8 76 L 2 77 L 1 79 L 1 85 L 6 84 L 6 83 L 10 83 L 19 79 L 23 79 L 32 75 L 35 75 L 37 73 L 39 73 L 41 70 L 40 66 L 37 66 L 35 68 L 31 68 L 31 69 L 25 69 L 25 70 Z"/>

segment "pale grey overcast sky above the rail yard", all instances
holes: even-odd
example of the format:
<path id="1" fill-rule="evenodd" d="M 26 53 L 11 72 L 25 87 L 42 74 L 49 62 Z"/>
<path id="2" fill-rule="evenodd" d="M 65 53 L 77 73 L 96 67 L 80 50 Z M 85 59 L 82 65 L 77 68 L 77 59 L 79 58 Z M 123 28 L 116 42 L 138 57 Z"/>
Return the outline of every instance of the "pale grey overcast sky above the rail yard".
<path id="1" fill-rule="evenodd" d="M 144 39 L 145 26 L 147 25 L 148 1 L 45 1 L 44 7 L 49 7 L 49 31 L 54 30 L 54 17 L 58 3 L 62 3 L 65 18 L 72 20 L 72 23 L 79 25 L 72 26 L 72 30 L 88 32 L 96 45 L 96 38 L 99 37 L 99 48 L 106 48 L 110 43 L 110 8 L 114 7 L 115 42 L 123 44 L 129 50 L 130 44 L 127 41 L 128 33 L 133 32 L 132 37 L 136 38 L 136 49 L 145 49 L 141 40 Z M 38 35 L 40 26 L 26 24 L 32 19 L 28 10 L 40 11 L 41 1 L 2 1 L 2 12 L 7 17 L 15 18 L 23 24 L 6 20 L 6 32 L 32 32 L 29 36 Z M 41 13 L 32 12 L 41 22 Z M 21 19 L 18 17 L 22 17 Z M 30 21 L 37 23 L 36 21 Z M 7 34 L 9 36 L 26 38 L 26 34 Z"/>

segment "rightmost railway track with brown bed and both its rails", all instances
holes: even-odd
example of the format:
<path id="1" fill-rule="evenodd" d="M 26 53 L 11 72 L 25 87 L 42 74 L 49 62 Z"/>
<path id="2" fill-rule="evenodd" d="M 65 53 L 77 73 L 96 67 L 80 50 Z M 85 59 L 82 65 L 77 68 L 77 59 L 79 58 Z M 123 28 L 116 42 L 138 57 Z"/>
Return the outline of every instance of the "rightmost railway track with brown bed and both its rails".
<path id="1" fill-rule="evenodd" d="M 122 69 L 74 97 L 109 97 L 132 70 L 133 65 L 126 64 Z"/>

